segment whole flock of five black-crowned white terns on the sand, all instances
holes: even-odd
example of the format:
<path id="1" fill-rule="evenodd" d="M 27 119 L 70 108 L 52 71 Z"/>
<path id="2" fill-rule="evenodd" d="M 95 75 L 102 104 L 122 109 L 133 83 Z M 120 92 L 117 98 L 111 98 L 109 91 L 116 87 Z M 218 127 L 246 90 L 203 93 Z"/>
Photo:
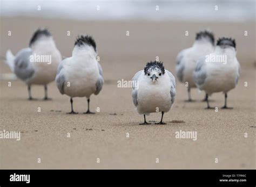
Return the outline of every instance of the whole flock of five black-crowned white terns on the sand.
<path id="1" fill-rule="evenodd" d="M 31 61 L 30 57 L 34 54 L 50 55 L 51 63 Z M 225 56 L 226 62 L 209 62 L 206 56 L 210 54 Z M 33 99 L 32 84 L 44 85 L 44 99 L 49 99 L 47 85 L 55 80 L 59 92 L 70 96 L 71 114 L 77 113 L 73 110 L 73 97 L 86 97 L 88 107 L 85 113 L 91 114 L 90 96 L 93 93 L 98 95 L 104 84 L 103 70 L 96 57 L 95 40 L 89 35 L 80 35 L 75 41 L 72 56 L 62 60 L 51 33 L 38 29 L 28 48 L 15 56 L 11 51 L 6 52 L 6 63 L 28 85 L 29 99 Z M 192 101 L 191 88 L 203 90 L 206 93 L 206 109 L 211 109 L 208 96 L 214 92 L 225 93 L 223 109 L 228 109 L 227 92 L 237 85 L 239 69 L 235 41 L 220 38 L 215 46 L 214 35 L 208 31 L 197 33 L 193 46 L 181 51 L 176 59 L 176 74 L 179 81 L 186 84 L 188 101 Z M 161 120 L 156 124 L 165 124 L 164 113 L 172 108 L 176 96 L 176 81 L 172 73 L 164 68 L 163 62 L 151 61 L 134 75 L 132 82 L 133 103 L 138 113 L 144 115 L 144 123 L 140 125 L 150 124 L 146 115 L 153 112 L 161 112 Z"/>

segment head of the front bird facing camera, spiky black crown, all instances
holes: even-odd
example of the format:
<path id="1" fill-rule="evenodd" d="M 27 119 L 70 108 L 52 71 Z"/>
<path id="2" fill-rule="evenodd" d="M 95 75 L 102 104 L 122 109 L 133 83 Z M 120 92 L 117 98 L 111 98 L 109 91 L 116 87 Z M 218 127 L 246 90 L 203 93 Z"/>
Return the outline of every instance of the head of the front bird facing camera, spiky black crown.
<path id="1" fill-rule="evenodd" d="M 158 78 L 161 78 L 161 76 L 165 74 L 163 62 L 147 62 L 146 67 L 144 68 L 144 74 L 146 77 L 151 78 L 152 82 L 158 81 Z"/>

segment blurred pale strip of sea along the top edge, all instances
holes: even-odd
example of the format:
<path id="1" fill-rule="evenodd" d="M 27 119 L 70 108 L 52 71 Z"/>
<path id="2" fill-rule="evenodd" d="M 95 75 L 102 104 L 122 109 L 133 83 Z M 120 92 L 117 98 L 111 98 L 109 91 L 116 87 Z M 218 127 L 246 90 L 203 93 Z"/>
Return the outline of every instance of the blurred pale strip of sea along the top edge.
<path id="1" fill-rule="evenodd" d="M 37 12 L 38 6 L 41 11 Z M 216 7 L 215 10 L 215 6 Z M 156 9 L 160 11 L 156 11 Z M 214 8 L 214 9 L 213 9 Z M 250 21 L 254 0 L 3 1 L 2 16 L 78 20 Z"/>

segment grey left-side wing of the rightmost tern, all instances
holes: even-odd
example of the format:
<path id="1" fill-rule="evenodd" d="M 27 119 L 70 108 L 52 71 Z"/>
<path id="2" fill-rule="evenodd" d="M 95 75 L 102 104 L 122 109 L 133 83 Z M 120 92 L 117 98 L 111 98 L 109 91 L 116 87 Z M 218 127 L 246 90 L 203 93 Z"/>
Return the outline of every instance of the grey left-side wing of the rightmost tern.
<path id="1" fill-rule="evenodd" d="M 205 83 L 206 77 L 207 72 L 205 68 L 205 56 L 203 56 L 199 58 L 197 66 L 193 72 L 193 80 L 199 89 Z"/>

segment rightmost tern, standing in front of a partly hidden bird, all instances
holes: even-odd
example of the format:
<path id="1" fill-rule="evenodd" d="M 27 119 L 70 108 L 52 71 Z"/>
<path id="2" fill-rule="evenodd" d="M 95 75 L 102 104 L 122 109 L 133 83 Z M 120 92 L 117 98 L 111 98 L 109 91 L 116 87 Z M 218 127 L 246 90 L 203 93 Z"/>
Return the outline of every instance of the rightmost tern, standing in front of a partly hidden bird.
<path id="1" fill-rule="evenodd" d="M 208 55 L 211 59 L 206 55 L 198 60 L 193 79 L 197 87 L 206 93 L 206 109 L 213 109 L 209 105 L 208 96 L 214 92 L 225 94 L 222 109 L 232 109 L 227 107 L 227 92 L 235 88 L 240 76 L 240 64 L 236 53 L 235 40 L 223 37 L 218 39 L 215 51 Z"/>

